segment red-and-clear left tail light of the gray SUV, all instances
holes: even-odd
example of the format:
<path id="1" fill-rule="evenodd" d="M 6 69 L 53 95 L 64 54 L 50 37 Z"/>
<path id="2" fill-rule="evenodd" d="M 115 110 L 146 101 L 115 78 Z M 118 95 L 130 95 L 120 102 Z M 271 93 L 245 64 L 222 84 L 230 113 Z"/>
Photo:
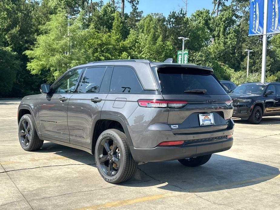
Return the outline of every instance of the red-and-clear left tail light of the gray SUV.
<path id="1" fill-rule="evenodd" d="M 182 108 L 188 102 L 182 100 L 147 100 L 147 99 L 139 99 L 138 105 L 140 107 L 149 107 L 149 108 Z"/>

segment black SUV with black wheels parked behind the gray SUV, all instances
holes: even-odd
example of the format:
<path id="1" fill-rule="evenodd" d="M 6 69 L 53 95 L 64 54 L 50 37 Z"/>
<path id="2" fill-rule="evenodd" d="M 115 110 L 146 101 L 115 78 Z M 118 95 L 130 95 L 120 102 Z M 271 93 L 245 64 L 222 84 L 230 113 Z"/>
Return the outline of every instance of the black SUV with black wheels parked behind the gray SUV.
<path id="1" fill-rule="evenodd" d="M 259 124 L 262 116 L 280 114 L 280 83 L 245 83 L 233 90 L 233 117 Z"/>

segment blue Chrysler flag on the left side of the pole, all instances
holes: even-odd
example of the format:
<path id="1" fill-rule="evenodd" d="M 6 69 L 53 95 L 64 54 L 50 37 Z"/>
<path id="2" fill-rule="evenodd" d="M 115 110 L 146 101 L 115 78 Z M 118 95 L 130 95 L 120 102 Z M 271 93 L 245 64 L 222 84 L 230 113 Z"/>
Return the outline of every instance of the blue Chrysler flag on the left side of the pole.
<path id="1" fill-rule="evenodd" d="M 249 36 L 263 34 L 264 0 L 250 0 Z"/>

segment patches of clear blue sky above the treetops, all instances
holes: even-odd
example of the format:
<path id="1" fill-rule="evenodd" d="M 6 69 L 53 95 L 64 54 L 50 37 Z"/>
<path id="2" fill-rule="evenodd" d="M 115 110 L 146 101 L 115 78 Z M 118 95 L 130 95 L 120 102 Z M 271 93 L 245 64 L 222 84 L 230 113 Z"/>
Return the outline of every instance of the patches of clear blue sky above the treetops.
<path id="1" fill-rule="evenodd" d="M 103 0 L 106 4 L 110 0 Z M 184 0 L 139 0 L 138 9 L 143 11 L 143 15 L 150 13 L 163 13 L 164 16 L 168 16 L 170 11 L 179 10 L 181 7 L 185 8 Z M 228 3 L 227 3 L 228 4 Z M 131 11 L 131 7 L 127 1 L 125 1 L 124 12 Z M 187 0 L 187 16 L 190 16 L 198 9 L 209 9 L 212 11 L 212 0 Z"/>

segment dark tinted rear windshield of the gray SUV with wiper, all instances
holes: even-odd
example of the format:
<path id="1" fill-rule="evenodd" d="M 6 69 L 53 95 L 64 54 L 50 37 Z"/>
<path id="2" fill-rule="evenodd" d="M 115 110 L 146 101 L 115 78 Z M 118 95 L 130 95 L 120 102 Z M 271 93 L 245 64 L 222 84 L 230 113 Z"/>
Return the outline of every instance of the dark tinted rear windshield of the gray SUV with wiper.
<path id="1" fill-rule="evenodd" d="M 226 94 L 213 75 L 206 70 L 166 67 L 159 69 L 157 74 L 162 94 Z M 206 90 L 206 92 L 202 93 L 198 90 Z"/>

